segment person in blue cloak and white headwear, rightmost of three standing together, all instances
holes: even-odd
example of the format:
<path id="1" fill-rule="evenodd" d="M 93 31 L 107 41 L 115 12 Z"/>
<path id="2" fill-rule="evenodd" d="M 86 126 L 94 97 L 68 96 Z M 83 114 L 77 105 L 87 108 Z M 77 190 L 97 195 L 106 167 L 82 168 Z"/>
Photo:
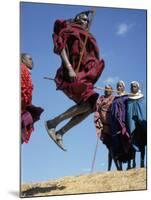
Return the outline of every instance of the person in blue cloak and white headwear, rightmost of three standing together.
<path id="1" fill-rule="evenodd" d="M 139 83 L 132 81 L 131 93 L 127 101 L 127 124 L 134 148 L 133 168 L 136 167 L 135 152 L 141 152 L 140 167 L 144 167 L 145 146 L 147 145 L 147 122 L 143 110 L 144 95 L 141 93 Z"/>

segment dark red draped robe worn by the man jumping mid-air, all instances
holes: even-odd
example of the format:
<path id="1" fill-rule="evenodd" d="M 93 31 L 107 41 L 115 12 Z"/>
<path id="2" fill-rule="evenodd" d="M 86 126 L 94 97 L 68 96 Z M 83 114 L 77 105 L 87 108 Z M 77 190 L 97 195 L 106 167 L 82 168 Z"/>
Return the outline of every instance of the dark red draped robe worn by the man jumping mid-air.
<path id="1" fill-rule="evenodd" d="M 60 54 L 65 48 L 68 59 L 75 71 L 86 36 L 88 36 L 88 40 L 76 80 L 74 82 L 70 81 L 68 71 L 63 63 L 57 70 L 55 77 L 57 89 L 62 90 L 76 103 L 82 103 L 88 99 L 92 100 L 92 97 L 96 100 L 96 96 L 98 97 L 98 94 L 93 90 L 93 85 L 104 69 L 104 60 L 99 58 L 99 50 L 94 37 L 80 25 L 63 20 L 55 22 L 53 33 L 54 52 Z"/>

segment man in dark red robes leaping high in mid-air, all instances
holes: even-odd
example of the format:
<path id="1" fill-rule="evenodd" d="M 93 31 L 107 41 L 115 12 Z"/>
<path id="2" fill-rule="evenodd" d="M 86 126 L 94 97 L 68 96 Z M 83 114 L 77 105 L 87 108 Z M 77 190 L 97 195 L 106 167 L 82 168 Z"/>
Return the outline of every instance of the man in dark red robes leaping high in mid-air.
<path id="1" fill-rule="evenodd" d="M 104 61 L 99 56 L 95 38 L 88 32 L 91 14 L 93 11 L 82 12 L 74 19 L 57 20 L 54 24 L 54 52 L 62 60 L 55 77 L 56 86 L 76 103 L 61 115 L 46 121 L 49 136 L 62 150 L 65 150 L 63 135 L 94 112 L 99 96 L 93 86 L 104 69 Z M 57 125 L 69 118 L 71 120 L 56 131 Z"/>

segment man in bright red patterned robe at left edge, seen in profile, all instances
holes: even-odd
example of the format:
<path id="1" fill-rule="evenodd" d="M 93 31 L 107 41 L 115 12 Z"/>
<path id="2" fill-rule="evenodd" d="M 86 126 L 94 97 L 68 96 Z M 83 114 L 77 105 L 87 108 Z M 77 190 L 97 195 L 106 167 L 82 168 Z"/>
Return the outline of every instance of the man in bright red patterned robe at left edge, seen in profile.
<path id="1" fill-rule="evenodd" d="M 28 143 L 43 109 L 32 105 L 33 83 L 30 71 L 33 60 L 29 54 L 21 54 L 21 143 Z"/>

